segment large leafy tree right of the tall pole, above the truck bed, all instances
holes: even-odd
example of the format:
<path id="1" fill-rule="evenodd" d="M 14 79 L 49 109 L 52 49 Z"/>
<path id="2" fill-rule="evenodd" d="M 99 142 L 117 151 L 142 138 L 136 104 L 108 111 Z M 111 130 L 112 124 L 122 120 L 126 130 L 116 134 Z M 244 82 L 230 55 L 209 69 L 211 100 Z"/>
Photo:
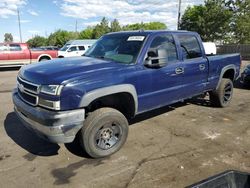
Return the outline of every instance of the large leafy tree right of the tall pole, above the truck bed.
<path id="1" fill-rule="evenodd" d="M 196 31 L 204 41 L 225 42 L 230 34 L 232 11 L 223 0 L 206 0 L 188 7 L 181 18 L 181 29 Z"/>

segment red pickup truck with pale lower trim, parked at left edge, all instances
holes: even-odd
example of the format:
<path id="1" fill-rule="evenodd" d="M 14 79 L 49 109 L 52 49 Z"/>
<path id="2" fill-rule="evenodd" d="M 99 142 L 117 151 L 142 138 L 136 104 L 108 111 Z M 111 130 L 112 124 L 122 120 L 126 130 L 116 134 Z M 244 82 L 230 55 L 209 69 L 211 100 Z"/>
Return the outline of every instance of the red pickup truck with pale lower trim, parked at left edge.
<path id="1" fill-rule="evenodd" d="M 57 50 L 30 50 L 26 43 L 0 43 L 0 67 L 21 66 L 57 57 Z"/>

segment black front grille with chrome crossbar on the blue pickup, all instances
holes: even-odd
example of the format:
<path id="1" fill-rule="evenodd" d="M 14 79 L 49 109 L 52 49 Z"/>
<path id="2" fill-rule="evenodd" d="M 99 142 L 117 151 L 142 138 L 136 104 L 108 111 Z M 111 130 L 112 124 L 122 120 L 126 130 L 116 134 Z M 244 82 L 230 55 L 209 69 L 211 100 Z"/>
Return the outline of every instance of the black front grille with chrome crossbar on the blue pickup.
<path id="1" fill-rule="evenodd" d="M 38 105 L 39 85 L 17 78 L 18 95 L 30 105 Z"/>

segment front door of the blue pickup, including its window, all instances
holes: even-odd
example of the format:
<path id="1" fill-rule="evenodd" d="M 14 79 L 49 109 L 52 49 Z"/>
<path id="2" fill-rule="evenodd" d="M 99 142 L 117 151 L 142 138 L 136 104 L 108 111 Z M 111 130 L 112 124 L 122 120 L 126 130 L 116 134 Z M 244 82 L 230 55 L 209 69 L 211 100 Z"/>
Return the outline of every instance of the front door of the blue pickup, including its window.
<path id="1" fill-rule="evenodd" d="M 154 37 L 147 51 L 147 57 L 158 56 L 163 51 L 162 67 L 144 67 L 141 71 L 140 88 L 138 90 L 139 112 L 159 108 L 180 99 L 182 91 L 182 73 L 178 70 L 183 63 L 178 60 L 173 36 L 162 33 Z M 158 60 L 152 60 L 153 63 Z"/>

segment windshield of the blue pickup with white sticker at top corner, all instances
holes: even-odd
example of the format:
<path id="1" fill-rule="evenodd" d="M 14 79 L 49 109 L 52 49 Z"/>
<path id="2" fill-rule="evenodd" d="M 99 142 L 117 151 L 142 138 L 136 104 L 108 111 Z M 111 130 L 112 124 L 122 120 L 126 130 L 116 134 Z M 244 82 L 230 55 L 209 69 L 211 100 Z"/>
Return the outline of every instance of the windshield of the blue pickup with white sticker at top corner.
<path id="1" fill-rule="evenodd" d="M 105 35 L 88 49 L 85 56 L 111 59 L 124 64 L 135 63 L 145 38 L 142 33 Z"/>

